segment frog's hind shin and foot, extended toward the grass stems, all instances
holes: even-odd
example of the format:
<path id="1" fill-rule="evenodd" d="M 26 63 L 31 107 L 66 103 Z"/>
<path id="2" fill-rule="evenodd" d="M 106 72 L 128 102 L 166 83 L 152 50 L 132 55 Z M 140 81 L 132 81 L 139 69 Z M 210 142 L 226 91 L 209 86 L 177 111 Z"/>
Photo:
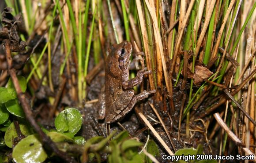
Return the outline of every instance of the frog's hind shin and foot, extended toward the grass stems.
<path id="1" fill-rule="evenodd" d="M 137 94 L 136 96 L 132 97 L 132 100 L 128 103 L 128 105 L 126 106 L 126 108 L 123 108 L 122 110 L 118 110 L 118 113 L 116 114 L 116 116 L 113 116 L 111 120 L 107 120 L 107 123 L 113 123 L 116 122 L 118 120 L 120 120 L 121 118 L 123 118 L 126 114 L 128 114 L 128 112 L 130 112 L 133 108 L 133 106 L 136 104 L 137 101 L 143 100 L 144 98 L 148 98 L 148 96 L 152 93 L 155 93 L 156 91 L 143 91 L 140 94 Z"/>

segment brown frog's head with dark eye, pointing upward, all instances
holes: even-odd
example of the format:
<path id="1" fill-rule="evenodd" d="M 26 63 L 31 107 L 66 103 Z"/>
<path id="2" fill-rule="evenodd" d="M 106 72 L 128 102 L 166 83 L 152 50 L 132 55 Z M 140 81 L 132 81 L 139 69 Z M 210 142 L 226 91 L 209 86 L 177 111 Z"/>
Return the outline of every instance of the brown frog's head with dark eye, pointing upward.
<path id="1" fill-rule="evenodd" d="M 132 43 L 128 41 L 123 41 L 119 43 L 116 47 L 116 55 L 118 57 L 118 65 L 120 69 L 129 69 L 130 57 L 132 54 Z"/>

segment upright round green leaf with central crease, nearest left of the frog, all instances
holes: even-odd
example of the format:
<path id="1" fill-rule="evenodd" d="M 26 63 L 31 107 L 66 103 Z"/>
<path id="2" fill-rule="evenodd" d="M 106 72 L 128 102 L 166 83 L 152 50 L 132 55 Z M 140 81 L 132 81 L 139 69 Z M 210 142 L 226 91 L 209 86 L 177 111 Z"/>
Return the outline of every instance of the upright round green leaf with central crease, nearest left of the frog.
<path id="1" fill-rule="evenodd" d="M 60 112 L 55 119 L 56 130 L 76 134 L 82 126 L 82 116 L 75 108 L 68 108 Z"/>

